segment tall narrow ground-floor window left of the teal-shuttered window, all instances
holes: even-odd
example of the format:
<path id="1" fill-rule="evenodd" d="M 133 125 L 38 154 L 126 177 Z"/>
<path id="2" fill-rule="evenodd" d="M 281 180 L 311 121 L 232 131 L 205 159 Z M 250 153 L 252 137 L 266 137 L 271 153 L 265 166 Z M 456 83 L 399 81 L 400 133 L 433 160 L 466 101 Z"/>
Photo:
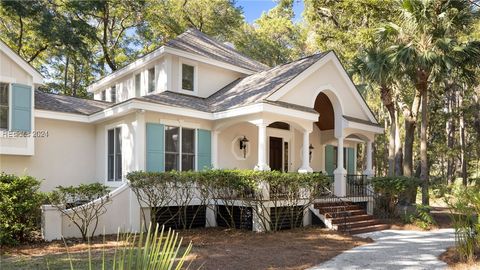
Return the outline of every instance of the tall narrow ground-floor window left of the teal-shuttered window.
<path id="1" fill-rule="evenodd" d="M 122 129 L 108 130 L 108 181 L 122 181 Z"/>

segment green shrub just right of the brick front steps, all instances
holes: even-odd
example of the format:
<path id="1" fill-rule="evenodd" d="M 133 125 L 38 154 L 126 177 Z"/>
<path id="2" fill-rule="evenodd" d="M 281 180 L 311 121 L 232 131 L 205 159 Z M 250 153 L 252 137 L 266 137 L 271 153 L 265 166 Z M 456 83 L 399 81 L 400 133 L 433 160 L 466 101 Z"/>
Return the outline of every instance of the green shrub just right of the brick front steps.
<path id="1" fill-rule="evenodd" d="M 420 181 L 412 177 L 374 177 L 372 186 L 378 195 L 376 200 L 377 212 L 391 217 L 395 215 L 395 208 L 405 193 L 416 189 Z"/>

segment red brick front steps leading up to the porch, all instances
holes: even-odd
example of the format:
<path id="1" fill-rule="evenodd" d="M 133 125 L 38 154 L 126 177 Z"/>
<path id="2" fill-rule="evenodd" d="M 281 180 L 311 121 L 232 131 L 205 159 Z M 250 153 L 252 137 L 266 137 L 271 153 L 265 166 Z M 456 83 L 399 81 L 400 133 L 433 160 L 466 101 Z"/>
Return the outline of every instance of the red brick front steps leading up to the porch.
<path id="1" fill-rule="evenodd" d="M 359 234 L 390 228 L 388 224 L 367 214 L 360 205 L 353 203 L 316 203 L 310 210 L 328 228 L 341 232 Z"/>

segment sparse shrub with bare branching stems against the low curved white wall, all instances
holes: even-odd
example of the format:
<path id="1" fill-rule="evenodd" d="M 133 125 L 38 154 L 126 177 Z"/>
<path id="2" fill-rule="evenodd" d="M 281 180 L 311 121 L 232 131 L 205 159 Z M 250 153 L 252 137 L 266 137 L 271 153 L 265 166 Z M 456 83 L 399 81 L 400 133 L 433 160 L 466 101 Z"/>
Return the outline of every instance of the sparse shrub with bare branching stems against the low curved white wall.
<path id="1" fill-rule="evenodd" d="M 53 206 L 60 210 L 79 230 L 87 241 L 97 229 L 98 218 L 107 211 L 108 187 L 100 183 L 79 186 L 58 186 L 50 193 Z M 96 200 L 96 201 L 95 201 Z M 95 203 L 90 203 L 95 201 Z"/>

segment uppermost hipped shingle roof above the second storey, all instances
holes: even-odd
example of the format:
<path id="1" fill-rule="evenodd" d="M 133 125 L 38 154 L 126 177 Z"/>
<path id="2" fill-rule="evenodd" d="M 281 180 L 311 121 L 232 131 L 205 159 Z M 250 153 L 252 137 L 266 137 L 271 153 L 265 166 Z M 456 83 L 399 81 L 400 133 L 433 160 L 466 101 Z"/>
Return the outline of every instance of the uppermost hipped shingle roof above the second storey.
<path id="1" fill-rule="evenodd" d="M 255 61 L 193 28 L 188 29 L 183 34 L 168 41 L 165 46 L 198 54 L 256 72 L 269 68 L 267 65 Z"/>

